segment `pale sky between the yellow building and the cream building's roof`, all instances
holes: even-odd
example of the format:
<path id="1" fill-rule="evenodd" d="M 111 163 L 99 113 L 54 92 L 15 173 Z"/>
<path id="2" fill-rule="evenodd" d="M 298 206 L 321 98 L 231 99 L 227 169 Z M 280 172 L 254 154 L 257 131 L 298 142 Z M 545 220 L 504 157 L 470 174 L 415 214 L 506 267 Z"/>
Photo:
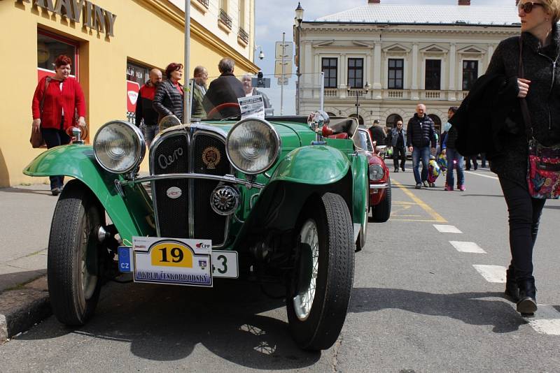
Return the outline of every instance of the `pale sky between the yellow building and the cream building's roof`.
<path id="1" fill-rule="evenodd" d="M 456 4 L 457 0 L 381 0 L 384 4 Z M 514 6 L 514 0 L 471 0 L 471 5 L 486 6 Z M 342 12 L 358 6 L 367 4 L 367 0 L 302 0 L 304 8 L 304 20 L 314 20 L 318 17 Z M 272 1 L 255 0 L 255 44 L 262 46 L 265 59 L 256 60 L 256 64 L 262 68 L 263 73 L 274 73 L 274 45 L 276 41 L 282 40 L 282 32 L 286 32 L 286 41 L 293 38 L 293 17 L 297 1 Z M 256 51 L 258 54 L 260 48 Z M 295 73 L 295 69 L 294 69 Z M 272 80 L 272 85 L 275 80 Z M 284 114 L 293 114 L 295 83 L 290 80 L 289 87 L 284 92 Z M 279 96 L 271 97 L 274 107 L 279 107 Z M 287 106 L 288 105 L 288 106 Z"/>

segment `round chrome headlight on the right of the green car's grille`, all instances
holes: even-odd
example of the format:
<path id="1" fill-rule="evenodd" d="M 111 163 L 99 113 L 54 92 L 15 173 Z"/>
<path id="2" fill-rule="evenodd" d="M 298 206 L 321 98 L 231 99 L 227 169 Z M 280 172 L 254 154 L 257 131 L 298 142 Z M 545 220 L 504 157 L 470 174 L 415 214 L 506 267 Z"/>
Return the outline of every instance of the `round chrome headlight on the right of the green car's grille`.
<path id="1" fill-rule="evenodd" d="M 233 126 L 225 140 L 228 159 L 237 170 L 248 175 L 264 173 L 280 154 L 280 137 L 272 124 L 248 118 Z"/>

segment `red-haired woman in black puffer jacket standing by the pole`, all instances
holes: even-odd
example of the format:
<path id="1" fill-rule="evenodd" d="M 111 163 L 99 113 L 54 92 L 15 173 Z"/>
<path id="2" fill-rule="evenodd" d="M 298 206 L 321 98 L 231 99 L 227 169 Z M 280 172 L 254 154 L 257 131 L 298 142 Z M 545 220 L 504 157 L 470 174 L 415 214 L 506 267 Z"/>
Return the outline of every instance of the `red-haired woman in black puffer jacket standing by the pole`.
<path id="1" fill-rule="evenodd" d="M 155 89 L 153 108 L 158 112 L 158 123 L 167 115 L 175 115 L 183 123 L 183 64 L 172 62 L 165 68 L 164 80 Z"/>

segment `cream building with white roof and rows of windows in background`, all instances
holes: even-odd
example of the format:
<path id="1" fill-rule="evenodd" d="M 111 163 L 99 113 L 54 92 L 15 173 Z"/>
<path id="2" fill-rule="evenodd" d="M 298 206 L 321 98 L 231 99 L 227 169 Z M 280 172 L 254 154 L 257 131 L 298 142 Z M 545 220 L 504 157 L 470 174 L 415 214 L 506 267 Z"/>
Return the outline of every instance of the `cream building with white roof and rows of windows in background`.
<path id="1" fill-rule="evenodd" d="M 318 20 L 296 20 L 297 112 L 318 108 L 316 76 L 323 71 L 330 115 L 358 115 L 366 125 L 379 119 L 394 126 L 402 119 L 406 125 L 416 105 L 424 103 L 440 128 L 448 108 L 460 105 L 484 74 L 498 43 L 520 32 L 513 0 L 510 7 L 459 3 L 464 5 L 370 0 Z"/>

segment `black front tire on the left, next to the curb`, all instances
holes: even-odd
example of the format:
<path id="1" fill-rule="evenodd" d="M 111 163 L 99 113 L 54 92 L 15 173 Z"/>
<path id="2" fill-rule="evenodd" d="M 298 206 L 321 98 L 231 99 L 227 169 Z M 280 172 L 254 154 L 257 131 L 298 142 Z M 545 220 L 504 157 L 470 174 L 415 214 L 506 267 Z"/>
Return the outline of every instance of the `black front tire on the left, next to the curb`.
<path id="1" fill-rule="evenodd" d="M 81 182 L 66 184 L 50 226 L 47 278 L 52 312 L 67 326 L 84 325 L 97 306 L 103 256 L 96 231 L 104 219 L 97 199 Z"/>

